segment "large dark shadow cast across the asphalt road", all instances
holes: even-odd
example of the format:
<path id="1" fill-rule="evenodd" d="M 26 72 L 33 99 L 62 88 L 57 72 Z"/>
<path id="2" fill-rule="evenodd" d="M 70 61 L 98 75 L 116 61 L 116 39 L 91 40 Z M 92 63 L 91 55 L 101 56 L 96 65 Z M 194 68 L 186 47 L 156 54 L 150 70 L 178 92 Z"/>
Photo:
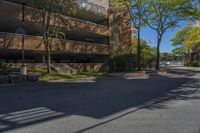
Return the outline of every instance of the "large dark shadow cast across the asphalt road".
<path id="1" fill-rule="evenodd" d="M 0 132 L 71 115 L 111 119 L 141 108 L 165 109 L 172 100 L 200 99 L 199 80 L 150 73 L 143 77 L 108 77 L 85 82 L 40 82 L 0 87 Z M 134 108 L 131 111 L 120 112 Z M 67 123 L 66 123 L 67 124 Z"/>

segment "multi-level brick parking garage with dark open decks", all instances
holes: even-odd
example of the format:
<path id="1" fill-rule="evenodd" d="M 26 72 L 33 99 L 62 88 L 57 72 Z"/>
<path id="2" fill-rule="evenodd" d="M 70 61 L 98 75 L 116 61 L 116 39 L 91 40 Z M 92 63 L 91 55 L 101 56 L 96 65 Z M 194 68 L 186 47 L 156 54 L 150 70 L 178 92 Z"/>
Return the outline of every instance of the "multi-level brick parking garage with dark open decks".
<path id="1" fill-rule="evenodd" d="M 22 1 L 0 1 L 0 59 L 19 63 L 22 58 Z M 52 48 L 57 63 L 104 63 L 114 52 L 130 53 L 131 21 L 128 12 L 113 14 L 109 0 L 76 0 L 77 14 L 66 16 L 70 30 L 60 50 Z M 29 18 L 33 8 L 25 6 L 25 62 L 45 62 L 40 24 Z M 115 18 L 118 18 L 116 20 Z M 118 24 L 116 27 L 116 23 Z"/>

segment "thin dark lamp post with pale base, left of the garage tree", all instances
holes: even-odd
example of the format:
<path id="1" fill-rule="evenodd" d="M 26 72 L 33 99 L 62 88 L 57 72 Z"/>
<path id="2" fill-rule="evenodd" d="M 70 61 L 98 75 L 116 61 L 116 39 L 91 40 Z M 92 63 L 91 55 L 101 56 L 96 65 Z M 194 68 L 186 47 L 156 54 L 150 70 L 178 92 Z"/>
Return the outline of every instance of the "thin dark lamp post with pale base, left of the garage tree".
<path id="1" fill-rule="evenodd" d="M 20 68 L 21 75 L 27 75 L 27 68 L 25 66 L 25 54 L 24 54 L 24 36 L 25 36 L 25 2 L 22 2 L 22 66 Z"/>

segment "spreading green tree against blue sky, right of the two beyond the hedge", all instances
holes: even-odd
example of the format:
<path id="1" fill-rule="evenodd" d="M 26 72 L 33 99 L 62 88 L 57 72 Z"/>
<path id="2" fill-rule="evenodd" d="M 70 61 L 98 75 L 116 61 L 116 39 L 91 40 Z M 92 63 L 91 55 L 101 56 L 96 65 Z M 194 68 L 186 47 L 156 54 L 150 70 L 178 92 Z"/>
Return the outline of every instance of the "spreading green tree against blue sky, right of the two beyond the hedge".
<path id="1" fill-rule="evenodd" d="M 181 20 L 197 17 L 198 0 L 149 0 L 146 12 L 148 26 L 157 33 L 156 70 L 159 70 L 160 44 L 167 30 Z"/>

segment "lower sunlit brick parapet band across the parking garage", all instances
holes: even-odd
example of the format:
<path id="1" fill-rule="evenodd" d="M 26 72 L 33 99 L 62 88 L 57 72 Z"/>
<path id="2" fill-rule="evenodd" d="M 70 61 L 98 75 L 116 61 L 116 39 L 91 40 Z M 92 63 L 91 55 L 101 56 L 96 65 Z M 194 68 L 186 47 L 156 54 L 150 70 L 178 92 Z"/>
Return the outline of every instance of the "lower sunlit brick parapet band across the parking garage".
<path id="1" fill-rule="evenodd" d="M 12 51 L 12 54 L 15 51 L 20 51 L 22 48 L 21 45 L 20 34 L 0 33 L 1 54 L 7 54 L 9 50 Z M 42 37 L 26 35 L 25 50 L 31 53 L 44 53 L 45 47 Z M 62 45 L 54 45 L 52 53 L 108 55 L 109 47 L 106 44 L 66 40 Z"/>

